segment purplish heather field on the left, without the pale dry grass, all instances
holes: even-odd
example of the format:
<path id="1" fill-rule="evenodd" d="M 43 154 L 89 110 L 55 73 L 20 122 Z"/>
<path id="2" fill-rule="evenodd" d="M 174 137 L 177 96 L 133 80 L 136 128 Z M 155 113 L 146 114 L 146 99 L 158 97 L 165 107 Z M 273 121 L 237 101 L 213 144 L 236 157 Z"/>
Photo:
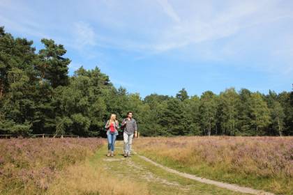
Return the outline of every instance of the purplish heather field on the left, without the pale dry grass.
<path id="1" fill-rule="evenodd" d="M 103 139 L 0 139 L 0 194 L 42 194 L 68 166 L 84 162 Z"/>

